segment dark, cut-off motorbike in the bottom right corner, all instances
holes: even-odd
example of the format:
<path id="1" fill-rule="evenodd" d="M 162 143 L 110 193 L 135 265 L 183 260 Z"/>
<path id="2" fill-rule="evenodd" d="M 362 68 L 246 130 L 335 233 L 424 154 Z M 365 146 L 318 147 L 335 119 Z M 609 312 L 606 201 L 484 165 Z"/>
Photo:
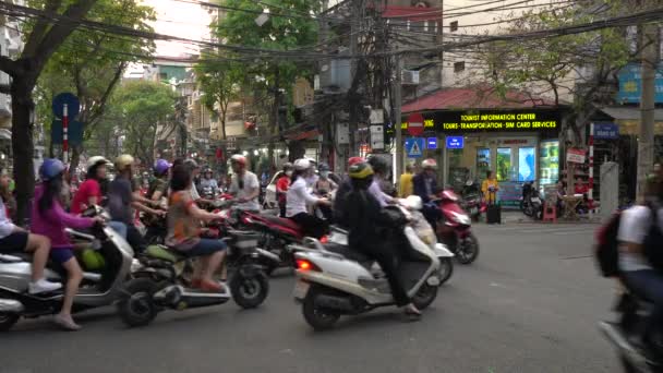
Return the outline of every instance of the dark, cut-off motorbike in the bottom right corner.
<path id="1" fill-rule="evenodd" d="M 663 351 L 651 351 L 641 342 L 651 316 L 652 305 L 631 292 L 619 296 L 615 311 L 619 317 L 615 322 L 599 324 L 601 332 L 617 349 L 625 372 L 653 373 L 663 371 Z"/>

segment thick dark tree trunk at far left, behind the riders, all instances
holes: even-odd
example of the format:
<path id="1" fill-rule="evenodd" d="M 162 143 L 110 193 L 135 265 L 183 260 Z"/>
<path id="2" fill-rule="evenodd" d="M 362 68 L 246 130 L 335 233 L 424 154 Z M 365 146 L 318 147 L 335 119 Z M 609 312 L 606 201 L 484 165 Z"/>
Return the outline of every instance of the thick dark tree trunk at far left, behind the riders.
<path id="1" fill-rule="evenodd" d="M 12 83 L 12 152 L 14 180 L 16 182 L 16 224 L 24 226 L 29 217 L 29 206 L 35 190 L 33 163 L 34 110 L 32 87 L 28 79 L 16 76 Z"/>

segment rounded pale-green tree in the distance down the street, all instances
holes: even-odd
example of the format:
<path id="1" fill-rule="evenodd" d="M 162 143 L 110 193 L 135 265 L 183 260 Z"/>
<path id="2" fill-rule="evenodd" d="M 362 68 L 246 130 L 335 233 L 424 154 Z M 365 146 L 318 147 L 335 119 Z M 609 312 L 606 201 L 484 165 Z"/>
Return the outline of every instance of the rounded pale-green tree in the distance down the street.
<path id="1" fill-rule="evenodd" d="M 157 141 L 174 130 L 174 100 L 170 87 L 157 82 L 130 81 L 118 87 L 106 119 L 124 135 L 124 153 L 143 165 L 154 163 Z"/>

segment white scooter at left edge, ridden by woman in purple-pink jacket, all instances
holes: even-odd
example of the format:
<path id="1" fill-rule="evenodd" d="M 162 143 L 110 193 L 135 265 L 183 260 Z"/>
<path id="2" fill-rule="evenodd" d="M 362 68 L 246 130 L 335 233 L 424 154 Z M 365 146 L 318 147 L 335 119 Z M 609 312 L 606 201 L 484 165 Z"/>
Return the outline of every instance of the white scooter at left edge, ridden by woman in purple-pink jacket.
<path id="1" fill-rule="evenodd" d="M 99 206 L 91 206 L 84 216 L 107 216 Z M 96 258 L 96 267 L 83 266 L 83 281 L 74 298 L 74 312 L 110 305 L 122 294 L 124 282 L 129 278 L 134 252 L 126 241 L 110 227 L 92 228 L 92 234 L 67 229 L 75 244 L 84 243 L 88 249 L 83 255 Z M 85 258 L 85 257 L 83 257 Z M 32 274 L 32 255 L 16 253 L 0 255 L 0 330 L 9 330 L 21 317 L 33 318 L 52 315 L 60 311 L 63 299 L 67 272 L 64 268 L 49 264 L 46 278 L 60 281 L 62 289 L 53 292 L 29 294 L 27 287 Z"/>

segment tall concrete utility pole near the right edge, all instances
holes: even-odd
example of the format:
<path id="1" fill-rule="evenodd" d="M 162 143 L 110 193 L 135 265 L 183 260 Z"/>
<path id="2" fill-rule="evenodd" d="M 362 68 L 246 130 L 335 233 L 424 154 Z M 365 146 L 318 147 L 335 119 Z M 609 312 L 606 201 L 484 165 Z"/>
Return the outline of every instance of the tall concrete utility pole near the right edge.
<path id="1" fill-rule="evenodd" d="M 660 56 L 659 27 L 655 24 L 640 25 L 642 57 L 642 91 L 640 97 L 640 131 L 638 136 L 637 197 L 644 196 L 647 175 L 653 169 L 654 145 L 654 88 Z"/>

